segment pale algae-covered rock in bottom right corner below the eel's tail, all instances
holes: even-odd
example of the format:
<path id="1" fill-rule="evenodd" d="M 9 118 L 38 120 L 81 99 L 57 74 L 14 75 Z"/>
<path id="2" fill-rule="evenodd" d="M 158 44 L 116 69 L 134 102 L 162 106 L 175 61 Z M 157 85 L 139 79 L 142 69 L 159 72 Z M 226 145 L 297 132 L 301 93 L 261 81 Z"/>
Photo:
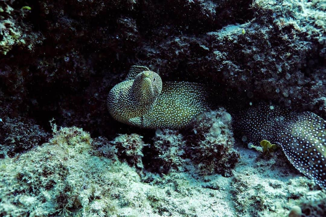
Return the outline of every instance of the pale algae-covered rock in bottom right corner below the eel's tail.
<path id="1" fill-rule="evenodd" d="M 312 180 L 298 176 L 289 179 L 290 174 L 282 177 L 288 168 L 257 167 L 252 163 L 244 171 L 235 172 L 230 183 L 238 216 L 288 216 L 294 206 L 301 208 L 303 217 L 326 214 L 326 195 Z"/>

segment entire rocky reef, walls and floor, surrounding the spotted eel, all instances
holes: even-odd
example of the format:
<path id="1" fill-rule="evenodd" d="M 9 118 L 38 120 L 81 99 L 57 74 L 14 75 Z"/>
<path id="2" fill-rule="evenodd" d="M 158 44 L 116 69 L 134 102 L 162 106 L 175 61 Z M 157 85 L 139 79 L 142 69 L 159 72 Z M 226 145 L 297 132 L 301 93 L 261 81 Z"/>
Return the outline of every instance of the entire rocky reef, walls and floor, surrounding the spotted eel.
<path id="1" fill-rule="evenodd" d="M 0 216 L 325 216 L 325 190 L 281 149 L 243 148 L 221 108 L 234 121 L 267 101 L 325 119 L 325 11 L 324 0 L 0 1 Z M 107 96 L 135 64 L 170 87 L 200 84 L 213 111 L 156 134 L 119 123 Z M 52 118 L 62 128 L 42 144 Z"/>

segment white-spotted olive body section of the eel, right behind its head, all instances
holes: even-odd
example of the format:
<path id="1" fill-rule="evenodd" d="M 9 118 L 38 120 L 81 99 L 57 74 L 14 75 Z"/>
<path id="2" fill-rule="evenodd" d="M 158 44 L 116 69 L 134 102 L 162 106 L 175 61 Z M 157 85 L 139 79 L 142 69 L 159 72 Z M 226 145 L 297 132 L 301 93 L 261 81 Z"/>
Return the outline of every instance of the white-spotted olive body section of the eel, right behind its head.
<path id="1" fill-rule="evenodd" d="M 206 110 L 205 91 L 200 84 L 165 82 L 153 109 L 142 116 L 140 127 L 181 129 Z"/>

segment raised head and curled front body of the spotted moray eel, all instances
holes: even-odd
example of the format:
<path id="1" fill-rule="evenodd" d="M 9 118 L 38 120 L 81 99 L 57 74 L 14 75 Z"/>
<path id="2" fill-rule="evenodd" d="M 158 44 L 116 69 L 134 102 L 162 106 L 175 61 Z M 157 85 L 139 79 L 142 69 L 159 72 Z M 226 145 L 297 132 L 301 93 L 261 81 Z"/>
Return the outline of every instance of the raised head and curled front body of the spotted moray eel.
<path id="1" fill-rule="evenodd" d="M 163 86 L 163 87 L 162 87 Z M 203 86 L 165 82 L 144 66 L 132 66 L 109 92 L 107 106 L 119 122 L 146 129 L 180 129 L 207 110 Z"/>

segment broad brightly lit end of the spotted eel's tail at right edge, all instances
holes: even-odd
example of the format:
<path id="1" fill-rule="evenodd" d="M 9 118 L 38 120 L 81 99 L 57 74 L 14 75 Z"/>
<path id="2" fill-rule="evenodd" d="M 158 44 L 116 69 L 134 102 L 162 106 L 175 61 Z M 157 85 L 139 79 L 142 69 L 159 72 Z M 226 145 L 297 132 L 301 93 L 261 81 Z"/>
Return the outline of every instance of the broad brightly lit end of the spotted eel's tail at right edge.
<path id="1" fill-rule="evenodd" d="M 326 121 L 311 112 L 291 116 L 276 144 L 297 170 L 326 189 Z"/>

